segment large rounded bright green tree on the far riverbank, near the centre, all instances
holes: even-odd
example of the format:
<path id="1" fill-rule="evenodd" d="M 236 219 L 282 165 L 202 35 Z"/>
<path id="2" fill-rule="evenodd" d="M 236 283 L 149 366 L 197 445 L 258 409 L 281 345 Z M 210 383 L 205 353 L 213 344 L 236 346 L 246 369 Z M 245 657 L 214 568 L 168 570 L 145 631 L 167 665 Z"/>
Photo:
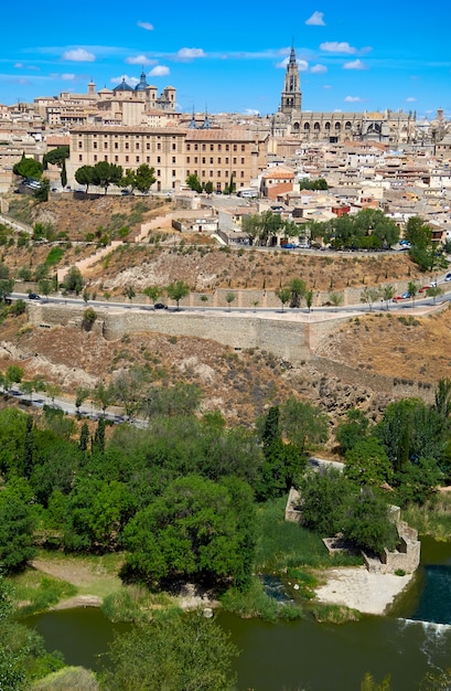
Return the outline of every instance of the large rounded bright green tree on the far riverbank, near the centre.
<path id="1" fill-rule="evenodd" d="M 250 487 L 237 478 L 213 482 L 190 475 L 170 482 L 127 524 L 125 577 L 250 576 L 255 509 Z"/>

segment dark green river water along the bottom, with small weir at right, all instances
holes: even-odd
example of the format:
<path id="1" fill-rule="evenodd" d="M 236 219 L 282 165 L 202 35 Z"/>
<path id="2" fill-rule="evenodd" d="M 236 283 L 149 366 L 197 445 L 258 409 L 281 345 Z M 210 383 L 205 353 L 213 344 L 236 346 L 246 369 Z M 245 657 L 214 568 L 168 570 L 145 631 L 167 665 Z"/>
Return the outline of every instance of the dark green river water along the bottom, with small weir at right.
<path id="1" fill-rule="evenodd" d="M 326 625 L 221 614 L 218 623 L 241 651 L 238 690 L 358 691 L 371 672 L 379 681 L 390 674 L 394 691 L 415 691 L 428 671 L 451 667 L 451 543 L 422 539 L 421 546 L 422 565 L 389 616 Z M 128 628 L 94 608 L 47 613 L 30 624 L 68 665 L 95 670 L 104 667 L 114 632 Z"/>

